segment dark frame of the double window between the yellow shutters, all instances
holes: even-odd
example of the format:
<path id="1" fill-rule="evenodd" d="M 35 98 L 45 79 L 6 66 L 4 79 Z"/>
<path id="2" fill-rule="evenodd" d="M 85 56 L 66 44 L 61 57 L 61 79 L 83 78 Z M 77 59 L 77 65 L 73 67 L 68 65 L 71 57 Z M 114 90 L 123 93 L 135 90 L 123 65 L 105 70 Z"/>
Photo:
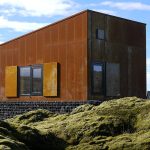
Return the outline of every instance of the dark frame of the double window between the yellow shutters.
<path id="1" fill-rule="evenodd" d="M 19 72 L 18 72 L 18 93 L 19 96 L 42 96 L 43 95 L 43 65 L 32 65 L 32 66 L 20 66 L 19 68 Z M 20 70 L 21 68 L 30 68 L 30 93 L 29 94 L 21 94 L 20 92 Z M 40 86 L 40 94 L 36 94 L 33 92 L 33 69 L 34 68 L 40 68 L 41 69 L 41 86 Z"/>

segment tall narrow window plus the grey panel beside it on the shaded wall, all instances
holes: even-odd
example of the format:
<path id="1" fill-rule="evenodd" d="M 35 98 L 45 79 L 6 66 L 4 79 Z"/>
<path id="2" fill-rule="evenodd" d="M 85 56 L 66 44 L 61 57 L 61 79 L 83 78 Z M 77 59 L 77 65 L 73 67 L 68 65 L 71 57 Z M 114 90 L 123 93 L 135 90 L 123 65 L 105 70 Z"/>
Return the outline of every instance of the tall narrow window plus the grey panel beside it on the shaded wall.
<path id="1" fill-rule="evenodd" d="M 92 64 L 92 94 L 120 96 L 120 64 L 98 62 Z"/>

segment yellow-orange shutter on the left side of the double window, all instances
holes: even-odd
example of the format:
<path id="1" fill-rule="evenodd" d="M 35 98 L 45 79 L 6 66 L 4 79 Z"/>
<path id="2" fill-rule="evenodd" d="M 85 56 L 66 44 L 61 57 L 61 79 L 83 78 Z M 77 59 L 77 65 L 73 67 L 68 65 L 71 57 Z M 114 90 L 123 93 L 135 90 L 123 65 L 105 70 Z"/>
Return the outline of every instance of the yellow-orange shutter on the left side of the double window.
<path id="1" fill-rule="evenodd" d="M 5 96 L 17 97 L 17 66 L 5 68 Z"/>

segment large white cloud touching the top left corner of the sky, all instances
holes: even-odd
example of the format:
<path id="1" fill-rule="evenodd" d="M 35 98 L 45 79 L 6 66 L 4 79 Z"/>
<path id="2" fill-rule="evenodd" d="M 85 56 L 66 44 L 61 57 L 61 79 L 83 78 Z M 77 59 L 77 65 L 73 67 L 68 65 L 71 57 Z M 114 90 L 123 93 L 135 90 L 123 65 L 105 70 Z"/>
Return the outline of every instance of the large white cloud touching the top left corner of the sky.
<path id="1" fill-rule="evenodd" d="M 77 6 L 72 0 L 0 0 L 7 7 L 4 13 L 19 13 L 24 16 L 66 15 Z M 16 11 L 17 9 L 17 11 Z"/>

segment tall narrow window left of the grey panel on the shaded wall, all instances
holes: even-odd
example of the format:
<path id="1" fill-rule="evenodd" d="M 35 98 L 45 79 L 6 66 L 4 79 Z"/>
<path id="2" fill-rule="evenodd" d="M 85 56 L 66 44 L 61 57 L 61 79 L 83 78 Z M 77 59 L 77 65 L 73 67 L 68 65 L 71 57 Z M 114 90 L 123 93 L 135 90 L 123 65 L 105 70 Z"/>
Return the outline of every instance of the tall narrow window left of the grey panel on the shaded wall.
<path id="1" fill-rule="evenodd" d="M 103 75 L 104 74 L 104 64 L 103 63 L 94 63 L 92 65 L 92 91 L 93 94 L 104 95 L 103 88 Z"/>

